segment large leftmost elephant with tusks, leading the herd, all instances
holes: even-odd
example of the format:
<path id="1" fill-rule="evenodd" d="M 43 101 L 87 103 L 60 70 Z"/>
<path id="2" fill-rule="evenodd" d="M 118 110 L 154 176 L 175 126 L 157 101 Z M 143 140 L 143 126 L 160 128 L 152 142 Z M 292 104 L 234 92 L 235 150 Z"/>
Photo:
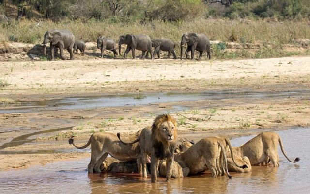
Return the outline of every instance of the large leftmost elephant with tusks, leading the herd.
<path id="1" fill-rule="evenodd" d="M 47 31 L 44 35 L 43 40 L 43 54 L 46 55 L 47 43 L 50 42 L 50 54 L 51 60 L 54 60 L 54 49 L 58 48 L 60 50 L 60 57 L 63 58 L 63 49 L 67 49 L 70 53 L 70 60 L 74 59 L 73 56 L 73 45 L 74 45 L 74 35 L 68 30 L 51 30 Z"/>

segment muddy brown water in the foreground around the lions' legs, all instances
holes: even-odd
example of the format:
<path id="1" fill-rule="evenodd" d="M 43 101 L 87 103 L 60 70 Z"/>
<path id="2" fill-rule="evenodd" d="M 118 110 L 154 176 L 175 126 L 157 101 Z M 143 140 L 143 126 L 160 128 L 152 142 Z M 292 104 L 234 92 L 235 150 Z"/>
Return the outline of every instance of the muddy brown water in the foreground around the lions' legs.
<path id="1" fill-rule="evenodd" d="M 165 182 L 159 178 L 151 184 L 150 178 L 137 174 L 88 174 L 89 159 L 70 162 L 48 163 L 23 170 L 0 171 L 0 193 L 3 194 L 204 194 L 204 193 L 281 193 L 308 194 L 310 191 L 310 128 L 278 131 L 288 156 L 300 157 L 300 162 L 290 163 L 279 151 L 280 166 L 253 166 L 251 173 L 232 173 L 211 178 L 209 172 Z M 254 136 L 232 140 L 240 146 Z"/>

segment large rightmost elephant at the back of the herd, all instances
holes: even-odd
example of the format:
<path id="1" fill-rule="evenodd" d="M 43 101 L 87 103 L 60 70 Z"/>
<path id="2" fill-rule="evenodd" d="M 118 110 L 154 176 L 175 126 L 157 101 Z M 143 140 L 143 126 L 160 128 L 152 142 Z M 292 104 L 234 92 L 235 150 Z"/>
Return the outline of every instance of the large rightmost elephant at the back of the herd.
<path id="1" fill-rule="evenodd" d="M 203 51 L 206 51 L 209 59 L 211 59 L 210 41 L 206 35 L 197 33 L 183 34 L 181 39 L 181 60 L 182 60 L 183 48 L 186 43 L 187 43 L 187 49 L 185 51 L 186 59 L 189 58 L 188 51 L 191 52 L 191 59 L 194 59 L 195 50 L 199 51 L 199 59 L 202 59 Z"/>

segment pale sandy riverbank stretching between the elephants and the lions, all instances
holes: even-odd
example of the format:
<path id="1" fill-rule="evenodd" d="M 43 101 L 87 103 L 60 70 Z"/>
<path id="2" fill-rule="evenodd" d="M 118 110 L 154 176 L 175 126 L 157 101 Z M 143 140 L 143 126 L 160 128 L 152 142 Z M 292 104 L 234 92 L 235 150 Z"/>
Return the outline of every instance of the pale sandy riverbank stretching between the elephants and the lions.
<path id="1" fill-rule="evenodd" d="M 172 59 L 0 62 L 0 78 L 10 84 L 0 88 L 0 97 L 18 103 L 68 96 L 169 91 L 308 91 L 309 61 L 310 57 L 182 62 Z M 175 111 L 173 107 L 184 109 Z M 310 94 L 2 113 L 0 145 L 38 131 L 75 127 L 27 136 L 27 140 L 33 141 L 0 149 L 0 170 L 89 157 L 89 152 L 76 152 L 67 143 L 68 137 L 75 136 L 82 145 L 94 131 L 136 131 L 151 125 L 156 114 L 169 112 L 178 120 L 180 140 L 197 141 L 210 135 L 232 138 L 264 129 L 310 126 Z M 45 150 L 48 154 L 35 153 Z"/>

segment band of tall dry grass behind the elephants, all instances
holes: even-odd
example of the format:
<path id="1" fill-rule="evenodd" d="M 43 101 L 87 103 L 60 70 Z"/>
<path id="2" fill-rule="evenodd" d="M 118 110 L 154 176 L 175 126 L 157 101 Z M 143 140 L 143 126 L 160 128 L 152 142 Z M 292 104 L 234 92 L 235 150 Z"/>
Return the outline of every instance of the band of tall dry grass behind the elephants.
<path id="1" fill-rule="evenodd" d="M 183 33 L 197 32 L 206 34 L 210 40 L 253 43 L 267 41 L 276 44 L 290 43 L 292 39 L 310 38 L 310 26 L 307 21 L 268 22 L 265 20 L 228 20 L 228 19 L 198 19 L 183 22 L 163 22 L 154 20 L 141 24 L 113 23 L 111 20 L 62 20 L 31 21 L 14 20 L 0 25 L 0 41 L 17 41 L 24 43 L 41 43 L 43 35 L 51 29 L 68 29 L 76 39 L 94 42 L 98 35 L 114 39 L 122 34 L 147 34 L 151 38 L 171 38 L 180 41 Z"/>

